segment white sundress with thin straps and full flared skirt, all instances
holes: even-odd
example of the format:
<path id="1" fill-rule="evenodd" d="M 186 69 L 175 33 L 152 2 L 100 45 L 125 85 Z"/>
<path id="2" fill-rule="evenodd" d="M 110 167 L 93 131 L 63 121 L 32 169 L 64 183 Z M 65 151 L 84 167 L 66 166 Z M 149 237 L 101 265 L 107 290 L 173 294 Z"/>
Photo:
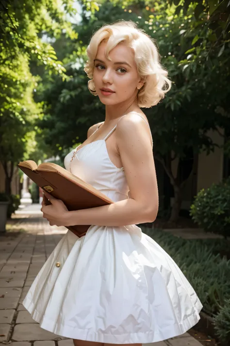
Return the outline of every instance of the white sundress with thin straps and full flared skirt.
<path id="1" fill-rule="evenodd" d="M 77 150 L 72 161 L 71 151 L 65 167 L 117 202 L 129 198 L 129 188 L 106 148 L 115 128 Z M 43 329 L 110 344 L 181 335 L 197 324 L 203 307 L 174 260 L 137 225 L 91 225 L 81 238 L 68 230 L 23 305 Z"/>

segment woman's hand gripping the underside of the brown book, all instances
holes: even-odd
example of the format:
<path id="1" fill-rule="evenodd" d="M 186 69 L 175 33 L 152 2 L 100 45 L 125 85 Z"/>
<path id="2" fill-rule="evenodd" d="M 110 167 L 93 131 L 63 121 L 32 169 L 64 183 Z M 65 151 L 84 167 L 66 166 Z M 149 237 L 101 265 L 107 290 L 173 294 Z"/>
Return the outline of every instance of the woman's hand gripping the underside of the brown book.
<path id="1" fill-rule="evenodd" d="M 50 205 L 46 205 L 45 198 L 43 198 L 41 208 L 43 217 L 49 221 L 50 226 L 65 226 L 68 215 L 68 209 L 66 208 L 65 204 L 60 199 L 51 196 L 51 194 L 48 192 L 43 192 L 45 197 L 51 203 Z"/>

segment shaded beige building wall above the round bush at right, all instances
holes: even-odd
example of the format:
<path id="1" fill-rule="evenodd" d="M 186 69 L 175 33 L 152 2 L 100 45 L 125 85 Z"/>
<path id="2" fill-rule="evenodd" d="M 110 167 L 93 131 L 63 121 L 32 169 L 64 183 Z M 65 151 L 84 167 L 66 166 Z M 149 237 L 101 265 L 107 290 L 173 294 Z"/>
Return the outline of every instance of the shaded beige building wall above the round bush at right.
<path id="1" fill-rule="evenodd" d="M 219 130 L 222 134 L 224 131 Z M 207 135 L 214 143 L 222 146 L 224 138 L 217 132 L 210 130 Z M 214 152 L 207 155 L 205 152 L 199 154 L 197 169 L 197 192 L 209 188 L 213 183 L 219 183 L 223 178 L 224 151 L 215 147 Z"/>

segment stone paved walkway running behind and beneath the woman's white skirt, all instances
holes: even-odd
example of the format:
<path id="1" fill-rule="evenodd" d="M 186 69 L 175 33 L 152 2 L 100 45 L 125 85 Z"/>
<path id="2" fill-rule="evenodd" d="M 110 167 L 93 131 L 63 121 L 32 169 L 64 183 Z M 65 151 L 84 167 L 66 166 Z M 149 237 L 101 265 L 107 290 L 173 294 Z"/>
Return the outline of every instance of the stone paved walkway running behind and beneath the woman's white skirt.
<path id="1" fill-rule="evenodd" d="M 33 279 L 66 233 L 65 227 L 49 226 L 40 208 L 33 205 L 16 212 L 7 234 L 0 235 L 0 345 L 73 346 L 71 339 L 41 329 L 22 305 Z M 201 346 L 187 332 L 146 345 Z"/>

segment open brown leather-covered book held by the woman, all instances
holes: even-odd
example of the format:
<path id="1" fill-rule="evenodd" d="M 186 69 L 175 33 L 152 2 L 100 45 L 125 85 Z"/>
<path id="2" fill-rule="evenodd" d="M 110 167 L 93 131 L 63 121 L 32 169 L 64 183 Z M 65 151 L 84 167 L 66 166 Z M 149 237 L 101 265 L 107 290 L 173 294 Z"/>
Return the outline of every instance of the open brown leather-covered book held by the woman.
<path id="1" fill-rule="evenodd" d="M 95 208 L 114 203 L 92 185 L 55 163 L 46 162 L 37 166 L 33 160 L 27 160 L 17 166 L 40 188 L 61 199 L 68 210 Z M 82 237 L 89 226 L 75 225 L 66 228 Z"/>

